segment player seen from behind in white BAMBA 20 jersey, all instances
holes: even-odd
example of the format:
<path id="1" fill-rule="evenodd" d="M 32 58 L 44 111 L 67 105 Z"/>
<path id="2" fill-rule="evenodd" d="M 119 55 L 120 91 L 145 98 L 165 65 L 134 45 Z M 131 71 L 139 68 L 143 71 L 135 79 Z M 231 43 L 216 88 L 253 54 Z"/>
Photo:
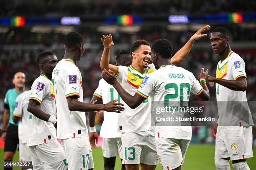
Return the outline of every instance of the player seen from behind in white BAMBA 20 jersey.
<path id="1" fill-rule="evenodd" d="M 170 60 L 171 56 L 171 42 L 166 39 L 154 42 L 152 62 L 158 70 L 143 79 L 141 86 L 133 96 L 123 89 L 113 72 L 110 74 L 104 70 L 102 77 L 115 87 L 120 97 L 131 108 L 139 107 L 149 96 L 152 101 L 163 101 L 163 105 L 158 103 L 157 107 L 165 107 L 164 105 L 169 105 L 169 102 L 179 106 L 180 102 L 188 101 L 189 92 L 199 95 L 203 100 L 208 100 L 209 91 L 205 82 L 202 81 L 201 86 L 191 72 L 174 66 Z M 180 76 L 172 76 L 175 74 Z M 202 69 L 200 77 L 204 75 L 205 72 Z M 166 101 L 167 104 L 165 104 Z M 180 170 L 191 136 L 191 126 L 156 126 L 156 151 L 164 170 Z"/>

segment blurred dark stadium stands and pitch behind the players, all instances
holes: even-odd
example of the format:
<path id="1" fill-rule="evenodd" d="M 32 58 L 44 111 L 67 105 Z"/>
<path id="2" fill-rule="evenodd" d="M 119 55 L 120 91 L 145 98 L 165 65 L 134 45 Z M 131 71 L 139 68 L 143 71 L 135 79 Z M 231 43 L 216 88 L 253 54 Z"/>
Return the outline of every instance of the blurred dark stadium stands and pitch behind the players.
<path id="1" fill-rule="evenodd" d="M 176 52 L 206 24 L 230 30 L 231 48 L 246 62 L 247 100 L 255 101 L 255 9 L 256 1 L 253 0 L 0 0 L 0 127 L 4 95 L 13 87 L 14 73 L 23 71 L 39 75 L 36 57 L 44 50 L 53 51 L 61 59 L 64 36 L 70 31 L 80 32 L 85 40 L 85 53 L 77 63 L 83 76 L 84 102 L 90 102 L 101 78 L 102 34 L 113 35 L 115 46 L 110 55 L 113 63 L 118 51 L 129 50 L 131 43 L 138 39 L 152 43 L 167 38 Z M 196 77 L 199 77 L 202 67 L 209 68 L 210 75 L 215 75 L 219 61 L 210 46 L 210 30 L 206 33 L 207 37 L 197 40 L 186 60 L 179 65 Z M 210 95 L 210 100 L 216 100 L 215 87 L 210 87 Z M 102 121 L 103 116 L 97 115 L 98 132 Z M 256 130 L 253 129 L 255 147 Z M 211 130 L 212 127 L 193 127 L 183 170 L 214 169 L 215 141 Z M 3 140 L 0 141 L 0 161 L 3 161 Z M 93 152 L 95 170 L 102 169 L 100 148 Z M 256 153 L 255 148 L 253 153 Z M 17 153 L 15 159 L 18 159 Z M 248 159 L 248 164 L 251 169 L 256 169 L 256 158 Z"/>

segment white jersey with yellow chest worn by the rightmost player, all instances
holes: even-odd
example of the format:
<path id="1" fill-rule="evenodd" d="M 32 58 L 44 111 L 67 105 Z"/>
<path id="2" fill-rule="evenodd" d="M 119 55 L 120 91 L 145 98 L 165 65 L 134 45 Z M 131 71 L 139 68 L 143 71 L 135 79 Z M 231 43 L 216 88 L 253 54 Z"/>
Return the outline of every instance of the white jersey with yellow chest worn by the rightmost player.
<path id="1" fill-rule="evenodd" d="M 225 60 L 218 62 L 216 77 L 225 80 L 237 80 L 240 77 L 246 77 L 245 62 L 238 54 L 230 51 Z M 220 117 L 218 123 L 227 125 L 228 122 L 232 122 L 232 125 L 253 125 L 246 91 L 230 90 L 216 83 L 216 98 Z M 242 120 L 246 120 L 246 122 Z"/>

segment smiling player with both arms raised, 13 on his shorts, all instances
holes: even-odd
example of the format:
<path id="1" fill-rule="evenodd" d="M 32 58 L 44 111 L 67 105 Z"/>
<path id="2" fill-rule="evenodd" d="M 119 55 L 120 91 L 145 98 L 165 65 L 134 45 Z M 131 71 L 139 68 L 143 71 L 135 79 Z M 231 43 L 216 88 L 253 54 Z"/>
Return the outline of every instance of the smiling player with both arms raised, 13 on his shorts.
<path id="1" fill-rule="evenodd" d="M 189 53 L 193 42 L 201 37 L 201 32 L 210 26 L 205 26 L 197 31 L 195 35 L 172 57 L 172 62 L 177 65 L 184 60 Z M 154 64 L 149 64 L 151 60 L 150 44 L 145 40 L 137 40 L 131 45 L 132 65 L 129 67 L 115 66 L 109 64 L 110 48 L 113 47 L 111 35 L 103 35 L 101 39 L 104 51 L 100 61 L 101 69 L 110 69 L 117 75 L 117 80 L 122 87 L 131 95 L 134 95 L 141 85 L 143 78 L 155 70 Z M 155 131 L 151 127 L 151 99 L 145 100 L 139 107 L 133 110 L 125 104 L 125 111 L 118 119 L 118 129 L 122 132 L 122 152 L 123 164 L 126 169 L 153 170 L 157 164 L 157 154 L 155 147 Z"/>

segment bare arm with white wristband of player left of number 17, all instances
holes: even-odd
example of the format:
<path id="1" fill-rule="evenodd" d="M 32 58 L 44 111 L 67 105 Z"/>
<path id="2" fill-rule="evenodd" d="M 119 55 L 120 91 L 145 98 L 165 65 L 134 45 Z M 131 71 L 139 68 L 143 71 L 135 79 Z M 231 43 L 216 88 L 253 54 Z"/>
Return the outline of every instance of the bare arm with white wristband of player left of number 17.
<path id="1" fill-rule="evenodd" d="M 49 114 L 47 114 L 46 112 L 44 112 L 43 110 L 39 109 L 40 104 L 36 101 L 36 100 L 29 100 L 28 102 L 28 112 L 31 112 L 33 115 L 35 115 L 36 117 L 38 117 L 41 120 L 44 120 L 46 122 L 51 122 L 54 127 L 57 127 L 57 119 Z"/>

